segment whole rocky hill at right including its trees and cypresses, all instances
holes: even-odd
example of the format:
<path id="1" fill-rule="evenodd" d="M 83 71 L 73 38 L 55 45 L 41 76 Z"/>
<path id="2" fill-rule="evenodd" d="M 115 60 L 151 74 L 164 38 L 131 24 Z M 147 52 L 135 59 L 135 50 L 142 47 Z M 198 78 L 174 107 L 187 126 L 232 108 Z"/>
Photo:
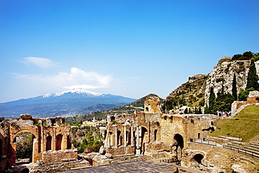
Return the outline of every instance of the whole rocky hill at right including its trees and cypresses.
<path id="1" fill-rule="evenodd" d="M 259 90 L 255 61 L 259 53 L 247 51 L 223 57 L 208 75 L 198 74 L 172 91 L 162 104 L 162 111 L 190 106 L 193 110 L 204 107 L 205 113 L 230 111 L 235 100 L 246 100 L 248 92 Z M 258 64 L 258 63 L 257 63 Z"/>

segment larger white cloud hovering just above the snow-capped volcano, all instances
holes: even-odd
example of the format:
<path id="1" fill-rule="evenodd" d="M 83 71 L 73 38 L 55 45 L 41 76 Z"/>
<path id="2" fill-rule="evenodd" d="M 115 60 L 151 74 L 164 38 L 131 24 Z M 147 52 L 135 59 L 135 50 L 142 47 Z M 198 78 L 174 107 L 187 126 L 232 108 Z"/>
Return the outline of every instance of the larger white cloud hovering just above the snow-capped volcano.
<path id="1" fill-rule="evenodd" d="M 98 74 L 93 71 L 83 71 L 76 67 L 71 68 L 70 73 L 59 72 L 57 75 L 46 76 L 43 74 L 15 74 L 16 77 L 22 78 L 27 83 L 41 84 L 43 88 L 82 88 L 96 89 L 108 88 L 112 81 L 111 75 Z"/>

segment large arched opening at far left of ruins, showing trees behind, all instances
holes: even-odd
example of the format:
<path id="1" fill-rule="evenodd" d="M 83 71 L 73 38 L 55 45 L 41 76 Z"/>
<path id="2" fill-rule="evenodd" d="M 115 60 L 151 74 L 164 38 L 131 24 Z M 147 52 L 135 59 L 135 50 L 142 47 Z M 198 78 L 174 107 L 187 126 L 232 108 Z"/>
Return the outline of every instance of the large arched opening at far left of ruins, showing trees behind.
<path id="1" fill-rule="evenodd" d="M 18 134 L 15 139 L 13 140 L 13 143 L 15 143 L 15 164 L 25 164 L 32 162 L 33 157 L 33 141 L 36 139 L 34 134 L 31 134 L 30 132 L 21 132 Z"/>

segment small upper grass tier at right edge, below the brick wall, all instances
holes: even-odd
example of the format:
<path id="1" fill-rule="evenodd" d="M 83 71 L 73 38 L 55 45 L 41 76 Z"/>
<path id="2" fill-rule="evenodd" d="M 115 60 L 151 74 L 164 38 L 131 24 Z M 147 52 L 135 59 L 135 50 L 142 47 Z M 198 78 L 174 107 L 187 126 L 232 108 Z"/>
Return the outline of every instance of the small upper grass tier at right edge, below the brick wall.
<path id="1" fill-rule="evenodd" d="M 237 113 L 235 118 L 259 119 L 259 105 L 246 106 L 239 113 Z"/>

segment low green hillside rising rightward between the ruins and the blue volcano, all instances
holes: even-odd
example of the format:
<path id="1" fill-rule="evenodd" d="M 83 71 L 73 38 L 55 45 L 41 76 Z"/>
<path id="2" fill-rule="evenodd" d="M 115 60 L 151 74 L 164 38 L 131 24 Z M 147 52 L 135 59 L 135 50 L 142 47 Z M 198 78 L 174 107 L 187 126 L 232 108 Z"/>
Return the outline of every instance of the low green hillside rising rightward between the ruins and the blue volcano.
<path id="1" fill-rule="evenodd" d="M 73 116 L 73 117 L 66 117 L 66 122 L 73 124 L 73 123 L 80 123 L 80 121 L 84 120 L 92 120 L 93 117 L 97 119 L 102 119 L 106 118 L 107 115 L 120 115 L 120 114 L 131 114 L 134 113 L 134 111 L 144 111 L 144 101 L 146 97 L 151 97 L 151 96 L 156 96 L 158 95 L 155 94 L 150 94 L 145 97 L 142 97 L 141 99 L 137 99 L 136 101 L 132 102 L 131 104 L 127 104 L 125 106 L 120 106 L 118 108 L 114 108 L 111 110 L 107 111 L 97 111 L 94 113 L 90 114 L 83 114 L 83 115 L 78 115 L 78 116 Z M 160 98 L 160 102 L 162 103 L 164 99 Z"/>

